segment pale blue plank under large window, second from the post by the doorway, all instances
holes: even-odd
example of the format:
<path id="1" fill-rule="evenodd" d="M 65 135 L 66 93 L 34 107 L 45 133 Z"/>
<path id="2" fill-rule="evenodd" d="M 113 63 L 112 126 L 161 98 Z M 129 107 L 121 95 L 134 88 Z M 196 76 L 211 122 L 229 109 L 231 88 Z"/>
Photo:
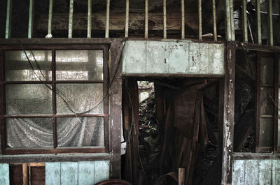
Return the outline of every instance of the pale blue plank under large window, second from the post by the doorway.
<path id="1" fill-rule="evenodd" d="M 78 162 L 78 184 L 79 185 L 94 184 L 94 161 Z"/>

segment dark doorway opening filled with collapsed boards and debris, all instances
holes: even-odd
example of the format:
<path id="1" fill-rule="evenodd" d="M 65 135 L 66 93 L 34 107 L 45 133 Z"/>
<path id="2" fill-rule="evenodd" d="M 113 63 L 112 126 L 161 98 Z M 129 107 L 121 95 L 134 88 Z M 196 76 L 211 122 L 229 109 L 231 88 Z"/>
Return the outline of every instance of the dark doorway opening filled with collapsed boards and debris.
<path id="1" fill-rule="evenodd" d="M 181 176 L 186 184 L 219 184 L 220 79 L 128 78 L 123 84 L 123 178 L 139 185 L 178 184 Z"/>

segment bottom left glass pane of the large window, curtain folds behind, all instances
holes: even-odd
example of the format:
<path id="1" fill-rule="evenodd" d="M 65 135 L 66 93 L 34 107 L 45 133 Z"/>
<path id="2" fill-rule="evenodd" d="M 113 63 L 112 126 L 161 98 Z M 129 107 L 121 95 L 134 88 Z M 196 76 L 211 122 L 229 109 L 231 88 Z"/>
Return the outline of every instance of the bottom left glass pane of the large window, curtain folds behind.
<path id="1" fill-rule="evenodd" d="M 53 147 L 52 119 L 6 119 L 10 148 Z"/>

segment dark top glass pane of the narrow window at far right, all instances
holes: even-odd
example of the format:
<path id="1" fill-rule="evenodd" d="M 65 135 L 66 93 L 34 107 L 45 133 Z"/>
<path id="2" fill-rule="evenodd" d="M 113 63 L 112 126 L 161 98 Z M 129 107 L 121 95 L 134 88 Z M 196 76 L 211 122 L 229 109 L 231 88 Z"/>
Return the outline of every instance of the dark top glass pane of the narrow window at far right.
<path id="1" fill-rule="evenodd" d="M 274 59 L 262 57 L 260 59 L 261 84 L 274 84 Z"/>

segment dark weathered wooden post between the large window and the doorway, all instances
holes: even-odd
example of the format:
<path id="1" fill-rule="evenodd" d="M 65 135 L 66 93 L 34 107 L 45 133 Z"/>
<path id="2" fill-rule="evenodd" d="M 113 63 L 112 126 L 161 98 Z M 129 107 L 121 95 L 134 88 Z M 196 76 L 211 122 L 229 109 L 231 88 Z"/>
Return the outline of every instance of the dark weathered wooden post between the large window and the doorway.
<path id="1" fill-rule="evenodd" d="M 111 63 L 109 63 L 109 142 L 111 144 L 111 168 L 110 178 L 120 178 L 120 142 L 122 128 L 122 86 L 121 77 L 122 62 L 120 60 L 123 53 L 122 39 L 114 38 L 111 43 Z M 116 75 L 115 75 L 116 74 Z M 113 82 L 112 82 L 113 80 Z"/>

